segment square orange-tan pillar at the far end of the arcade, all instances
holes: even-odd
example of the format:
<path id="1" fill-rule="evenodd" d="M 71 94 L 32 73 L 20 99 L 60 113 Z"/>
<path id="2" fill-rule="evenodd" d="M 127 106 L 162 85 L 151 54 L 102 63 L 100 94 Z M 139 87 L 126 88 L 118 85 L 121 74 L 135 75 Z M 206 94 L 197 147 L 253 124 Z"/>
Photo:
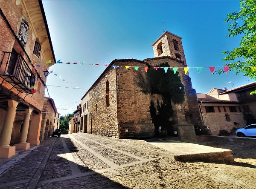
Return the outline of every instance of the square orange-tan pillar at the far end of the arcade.
<path id="1" fill-rule="evenodd" d="M 41 121 L 42 121 L 42 114 L 36 114 L 33 112 L 32 120 L 29 127 L 29 135 L 28 135 L 28 143 L 30 145 L 38 146 L 40 144 L 39 136 L 41 130 Z"/>

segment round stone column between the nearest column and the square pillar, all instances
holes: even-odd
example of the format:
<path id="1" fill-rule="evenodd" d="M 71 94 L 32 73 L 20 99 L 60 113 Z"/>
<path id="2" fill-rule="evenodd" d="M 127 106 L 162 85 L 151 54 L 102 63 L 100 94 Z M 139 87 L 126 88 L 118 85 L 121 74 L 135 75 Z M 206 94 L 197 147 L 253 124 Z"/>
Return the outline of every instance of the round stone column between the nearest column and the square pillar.
<path id="1" fill-rule="evenodd" d="M 28 131 L 29 131 L 29 119 L 32 111 L 33 111 L 32 108 L 26 109 L 23 128 L 21 130 L 21 135 L 20 135 L 20 143 L 14 145 L 16 146 L 16 149 L 28 150 L 30 147 L 29 143 L 27 143 L 26 140 L 27 140 Z"/>

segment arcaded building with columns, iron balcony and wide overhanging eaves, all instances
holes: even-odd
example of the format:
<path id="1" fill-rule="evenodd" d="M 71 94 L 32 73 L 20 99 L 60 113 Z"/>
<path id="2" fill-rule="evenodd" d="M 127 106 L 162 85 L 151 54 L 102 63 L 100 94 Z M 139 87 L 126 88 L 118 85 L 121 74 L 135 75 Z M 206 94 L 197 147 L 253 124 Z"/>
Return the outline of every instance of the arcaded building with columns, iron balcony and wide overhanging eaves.
<path id="1" fill-rule="evenodd" d="M 0 158 L 40 144 L 47 70 L 56 62 L 41 0 L 0 0 Z"/>

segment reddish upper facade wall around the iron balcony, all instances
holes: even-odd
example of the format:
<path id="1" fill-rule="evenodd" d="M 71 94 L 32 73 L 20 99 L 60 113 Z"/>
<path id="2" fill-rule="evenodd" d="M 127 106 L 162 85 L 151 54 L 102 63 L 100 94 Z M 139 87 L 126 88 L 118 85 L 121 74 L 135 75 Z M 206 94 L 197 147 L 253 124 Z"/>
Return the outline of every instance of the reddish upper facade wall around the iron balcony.
<path id="1" fill-rule="evenodd" d="M 12 30 L 18 35 L 19 29 L 20 29 L 20 24 L 22 18 L 24 18 L 26 21 L 29 23 L 29 29 L 28 29 L 28 38 L 25 46 L 25 51 L 29 55 L 30 60 L 32 63 L 37 63 L 38 61 L 41 61 L 40 66 L 37 67 L 36 69 L 38 73 L 44 77 L 44 69 L 48 69 L 48 66 L 44 62 L 44 59 L 42 57 L 43 49 L 40 53 L 39 58 L 33 54 L 34 46 L 35 46 L 35 34 L 33 32 L 33 26 L 32 22 L 29 19 L 29 15 L 26 13 L 25 10 L 23 10 L 23 7 L 21 6 L 20 3 L 17 3 L 18 1 L 16 0 L 0 0 L 0 8 L 3 11 L 3 14 L 7 18 L 8 22 L 10 23 Z M 17 4 L 16 4 L 17 3 Z M 3 57 L 3 51 L 6 52 L 12 52 L 12 48 L 14 48 L 17 53 L 21 53 L 23 58 L 26 60 L 26 63 L 28 64 L 29 68 L 32 70 L 33 74 L 36 75 L 35 70 L 33 69 L 32 65 L 29 62 L 29 59 L 26 57 L 26 54 L 21 50 L 19 44 L 17 43 L 15 37 L 13 36 L 12 32 L 10 31 L 9 27 L 7 26 L 6 22 L 3 20 L 3 17 L 0 16 L 0 59 Z M 2 67 L 5 67 L 5 65 L 1 66 L 0 72 L 3 72 Z M 46 83 L 46 79 L 43 79 L 44 82 Z M 1 80 L 0 80 L 1 82 Z M 41 82 L 39 79 L 36 80 L 35 82 L 35 87 L 38 89 L 38 83 Z M 3 86 L 6 87 L 7 89 L 10 88 L 10 85 L 8 85 L 6 82 L 3 83 Z M 17 90 L 13 89 L 13 92 L 17 93 Z M 30 104 L 30 106 L 35 107 L 39 111 L 41 111 L 44 103 L 44 92 L 45 92 L 45 87 L 41 83 L 41 90 L 40 93 L 36 92 L 33 95 L 28 95 L 25 99 L 27 103 Z M 25 96 L 25 94 L 19 94 L 21 99 Z"/>

